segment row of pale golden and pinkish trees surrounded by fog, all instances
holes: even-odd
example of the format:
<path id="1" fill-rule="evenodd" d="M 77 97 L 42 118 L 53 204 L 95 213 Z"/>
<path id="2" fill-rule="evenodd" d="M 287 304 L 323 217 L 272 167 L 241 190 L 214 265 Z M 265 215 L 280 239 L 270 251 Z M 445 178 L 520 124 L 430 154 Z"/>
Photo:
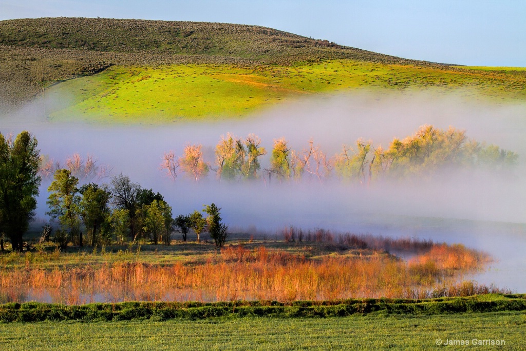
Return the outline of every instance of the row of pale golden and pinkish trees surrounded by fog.
<path id="1" fill-rule="evenodd" d="M 228 133 L 216 145 L 214 162 L 205 161 L 201 145 L 187 145 L 181 157 L 166 152 L 160 168 L 173 180 L 183 174 L 196 182 L 214 171 L 219 180 L 310 177 L 319 182 L 338 178 L 369 184 L 380 178 L 431 175 L 447 167 L 494 171 L 513 166 L 518 160 L 514 152 L 469 139 L 466 131 L 431 125 L 421 126 L 404 139 L 393 139 L 386 149 L 360 138 L 355 146 L 344 144 L 340 153 L 328 156 L 312 139 L 308 147 L 296 151 L 285 138 L 279 138 L 274 140 L 269 165 L 262 167 L 265 155 L 267 150 L 258 136 L 240 138 Z"/>

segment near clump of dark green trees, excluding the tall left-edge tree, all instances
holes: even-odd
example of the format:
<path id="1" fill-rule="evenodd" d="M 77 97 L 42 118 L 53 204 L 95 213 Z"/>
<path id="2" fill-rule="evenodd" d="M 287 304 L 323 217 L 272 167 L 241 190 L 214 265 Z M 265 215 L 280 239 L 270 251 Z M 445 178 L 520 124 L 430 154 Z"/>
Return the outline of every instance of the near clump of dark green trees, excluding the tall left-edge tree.
<path id="1" fill-rule="evenodd" d="M 220 208 L 214 203 L 205 205 L 202 212 L 195 210 L 173 218 L 162 194 L 142 188 L 126 175 L 114 176 L 102 185 L 78 187 L 78 182 L 69 169 L 58 169 L 48 188 L 46 214 L 59 224 L 55 241 L 62 249 L 69 243 L 85 245 L 83 233 L 91 246 L 135 243 L 139 239 L 170 245 L 174 232 L 186 241 L 190 230 L 198 242 L 200 234 L 208 232 L 218 247 L 225 244 L 228 226 L 222 223 Z"/>

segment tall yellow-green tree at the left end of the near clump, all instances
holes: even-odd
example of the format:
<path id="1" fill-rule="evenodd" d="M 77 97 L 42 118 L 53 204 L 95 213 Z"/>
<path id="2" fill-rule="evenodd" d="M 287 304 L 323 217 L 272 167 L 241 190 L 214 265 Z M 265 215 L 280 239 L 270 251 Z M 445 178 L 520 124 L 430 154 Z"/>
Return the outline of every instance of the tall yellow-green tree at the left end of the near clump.
<path id="1" fill-rule="evenodd" d="M 68 169 L 57 169 L 53 182 L 48 187 L 50 192 L 47 205 L 48 216 L 58 219 L 60 227 L 69 234 L 69 238 L 80 233 L 78 178 L 71 175 Z"/>

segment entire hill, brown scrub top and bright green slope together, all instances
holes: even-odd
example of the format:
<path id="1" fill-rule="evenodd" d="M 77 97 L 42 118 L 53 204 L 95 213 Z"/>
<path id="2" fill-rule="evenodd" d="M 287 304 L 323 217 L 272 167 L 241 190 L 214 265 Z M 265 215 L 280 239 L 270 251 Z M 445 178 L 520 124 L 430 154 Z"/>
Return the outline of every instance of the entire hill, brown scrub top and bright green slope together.
<path id="1" fill-rule="evenodd" d="M 0 21 L 0 84 L 0 112 L 48 89 L 70 99 L 46 110 L 51 118 L 118 123 L 244 116 L 357 88 L 526 97 L 526 71 L 414 61 L 259 26 L 106 18 Z"/>

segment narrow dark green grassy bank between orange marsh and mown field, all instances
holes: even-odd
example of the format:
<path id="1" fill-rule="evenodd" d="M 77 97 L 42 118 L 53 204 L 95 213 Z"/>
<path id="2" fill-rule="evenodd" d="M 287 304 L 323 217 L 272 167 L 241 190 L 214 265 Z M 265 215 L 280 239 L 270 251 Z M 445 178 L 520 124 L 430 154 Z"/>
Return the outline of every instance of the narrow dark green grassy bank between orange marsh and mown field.
<path id="1" fill-rule="evenodd" d="M 348 299 L 333 301 L 235 301 L 199 302 L 124 302 L 116 304 L 24 303 L 0 305 L 0 322 L 55 322 L 79 320 L 109 322 L 134 319 L 208 319 L 215 317 L 347 317 L 352 315 L 443 315 L 526 310 L 525 295 L 487 294 L 436 299 Z"/>

